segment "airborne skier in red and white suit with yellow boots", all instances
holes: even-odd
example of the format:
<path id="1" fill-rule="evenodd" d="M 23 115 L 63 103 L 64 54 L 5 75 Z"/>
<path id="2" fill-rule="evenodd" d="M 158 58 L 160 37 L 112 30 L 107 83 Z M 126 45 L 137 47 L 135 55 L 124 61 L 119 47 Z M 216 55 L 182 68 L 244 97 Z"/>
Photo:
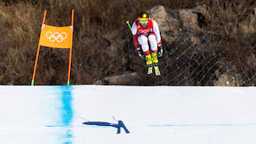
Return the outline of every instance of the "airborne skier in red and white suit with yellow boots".
<path id="1" fill-rule="evenodd" d="M 158 68 L 158 57 L 162 56 L 163 47 L 157 22 L 150 18 L 148 13 L 141 12 L 138 19 L 132 24 L 131 33 L 138 55 L 146 60 L 148 74 L 152 73 L 154 66 L 156 75 L 161 75 Z"/>

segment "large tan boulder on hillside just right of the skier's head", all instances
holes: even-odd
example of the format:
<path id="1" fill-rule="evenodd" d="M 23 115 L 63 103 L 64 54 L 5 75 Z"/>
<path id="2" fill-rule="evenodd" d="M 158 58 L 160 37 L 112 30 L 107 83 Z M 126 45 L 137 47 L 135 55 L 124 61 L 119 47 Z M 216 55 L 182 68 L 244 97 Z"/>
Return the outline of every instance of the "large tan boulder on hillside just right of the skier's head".
<path id="1" fill-rule="evenodd" d="M 163 41 L 175 41 L 181 33 L 182 28 L 191 30 L 200 30 L 206 25 L 204 16 L 202 16 L 202 7 L 195 9 L 166 9 L 163 6 L 156 6 L 148 12 L 150 16 L 157 21 Z M 193 34 L 190 35 L 192 41 L 198 43 Z"/>

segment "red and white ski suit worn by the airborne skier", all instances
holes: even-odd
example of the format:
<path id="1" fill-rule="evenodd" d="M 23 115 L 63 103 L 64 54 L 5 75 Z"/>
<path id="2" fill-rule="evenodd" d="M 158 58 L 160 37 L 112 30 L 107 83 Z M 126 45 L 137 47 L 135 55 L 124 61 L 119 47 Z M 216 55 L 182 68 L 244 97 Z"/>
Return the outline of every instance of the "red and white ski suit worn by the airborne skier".
<path id="1" fill-rule="evenodd" d="M 137 19 L 132 24 L 131 33 L 135 47 L 137 50 L 140 50 L 141 47 L 144 55 L 149 55 L 150 49 L 152 53 L 157 53 L 157 46 L 162 45 L 157 22 L 151 18 L 149 19 L 148 26 L 146 28 L 143 28 Z"/>

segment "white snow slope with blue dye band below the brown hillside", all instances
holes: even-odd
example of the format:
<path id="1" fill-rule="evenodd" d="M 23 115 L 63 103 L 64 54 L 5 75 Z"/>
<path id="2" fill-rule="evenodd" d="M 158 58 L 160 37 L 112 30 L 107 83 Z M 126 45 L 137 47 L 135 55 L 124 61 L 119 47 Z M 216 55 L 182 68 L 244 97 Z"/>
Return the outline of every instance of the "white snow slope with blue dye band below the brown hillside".
<path id="1" fill-rule="evenodd" d="M 256 143 L 254 87 L 0 86 L 0 92 L 0 143 Z M 117 134 L 118 121 L 130 133 L 120 127 Z"/>

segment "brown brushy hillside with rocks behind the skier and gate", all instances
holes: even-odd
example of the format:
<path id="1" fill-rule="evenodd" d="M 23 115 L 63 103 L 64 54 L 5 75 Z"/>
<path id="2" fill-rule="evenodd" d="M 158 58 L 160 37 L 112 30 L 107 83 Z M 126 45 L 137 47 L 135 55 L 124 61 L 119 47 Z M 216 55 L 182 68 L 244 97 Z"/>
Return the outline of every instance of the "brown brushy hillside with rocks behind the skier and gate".
<path id="1" fill-rule="evenodd" d="M 74 15 L 71 85 L 256 84 L 253 0 L 2 0 L 0 85 L 30 85 L 44 9 L 46 24 Z M 126 21 L 141 11 L 163 36 L 162 76 L 147 76 Z M 35 85 L 67 85 L 68 50 L 41 47 Z"/>

